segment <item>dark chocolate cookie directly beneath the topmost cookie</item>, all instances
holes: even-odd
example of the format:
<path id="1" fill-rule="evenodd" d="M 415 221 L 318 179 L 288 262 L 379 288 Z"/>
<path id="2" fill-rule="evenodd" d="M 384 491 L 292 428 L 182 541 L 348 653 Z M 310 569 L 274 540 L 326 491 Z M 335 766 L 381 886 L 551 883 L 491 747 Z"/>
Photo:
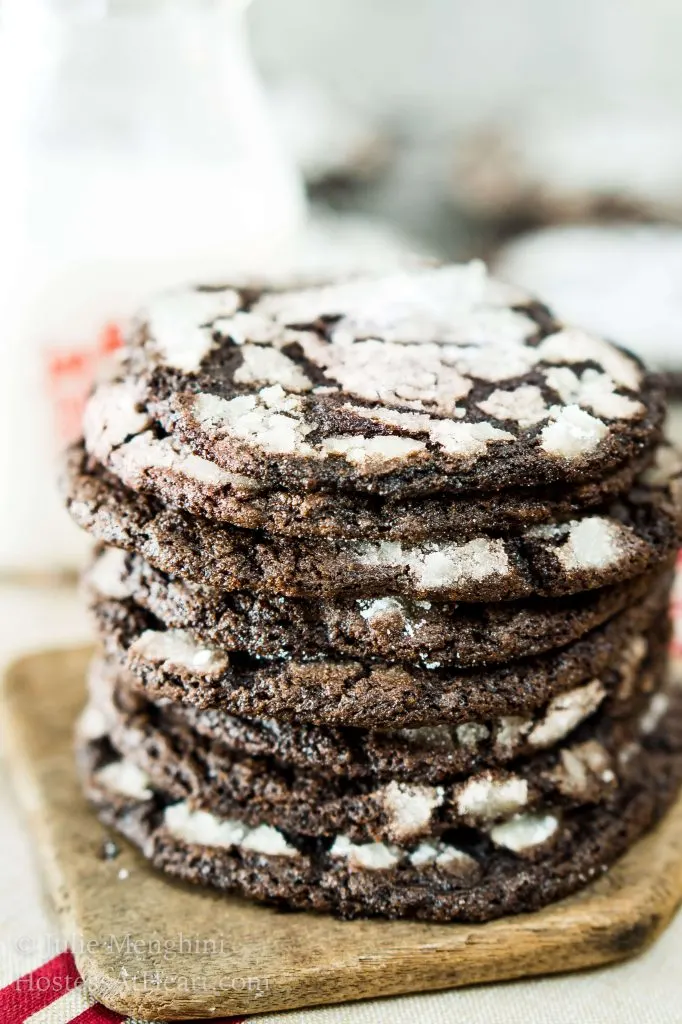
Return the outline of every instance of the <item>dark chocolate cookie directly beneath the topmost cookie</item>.
<path id="1" fill-rule="evenodd" d="M 267 488 L 255 477 L 211 472 L 206 460 L 171 437 L 148 431 L 104 464 L 132 490 L 154 495 L 171 508 L 292 537 L 423 541 L 469 538 L 486 530 L 518 531 L 548 520 L 570 519 L 626 494 L 655 458 L 644 447 L 617 471 L 572 486 L 525 487 L 494 495 L 425 495 L 397 498 L 349 490 Z M 137 458 L 124 456 L 137 453 Z M 143 456 L 143 457 L 142 457 Z"/>

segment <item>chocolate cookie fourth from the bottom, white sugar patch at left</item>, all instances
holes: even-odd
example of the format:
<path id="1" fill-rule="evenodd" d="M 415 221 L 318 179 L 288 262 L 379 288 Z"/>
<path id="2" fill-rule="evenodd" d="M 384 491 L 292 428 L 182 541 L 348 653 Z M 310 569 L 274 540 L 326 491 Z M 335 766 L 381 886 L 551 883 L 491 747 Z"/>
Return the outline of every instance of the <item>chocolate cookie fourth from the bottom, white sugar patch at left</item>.
<path id="1" fill-rule="evenodd" d="M 372 658 L 259 658 L 164 630 L 132 601 L 93 606 L 104 650 L 153 699 L 363 728 L 462 723 L 525 715 L 557 693 L 620 671 L 633 638 L 668 626 L 663 583 L 639 604 L 558 651 L 456 670 Z"/>

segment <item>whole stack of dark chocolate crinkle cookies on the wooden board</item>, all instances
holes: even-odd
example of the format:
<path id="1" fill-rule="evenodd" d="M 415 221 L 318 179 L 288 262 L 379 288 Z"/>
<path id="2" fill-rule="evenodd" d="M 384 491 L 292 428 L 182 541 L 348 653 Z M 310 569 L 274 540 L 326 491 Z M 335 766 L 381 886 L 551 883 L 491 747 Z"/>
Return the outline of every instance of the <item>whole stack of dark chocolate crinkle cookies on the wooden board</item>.
<path id="1" fill-rule="evenodd" d="M 484 921 L 674 798 L 658 380 L 480 263 L 140 316 L 63 478 L 97 541 L 79 760 L 161 869 Z"/>

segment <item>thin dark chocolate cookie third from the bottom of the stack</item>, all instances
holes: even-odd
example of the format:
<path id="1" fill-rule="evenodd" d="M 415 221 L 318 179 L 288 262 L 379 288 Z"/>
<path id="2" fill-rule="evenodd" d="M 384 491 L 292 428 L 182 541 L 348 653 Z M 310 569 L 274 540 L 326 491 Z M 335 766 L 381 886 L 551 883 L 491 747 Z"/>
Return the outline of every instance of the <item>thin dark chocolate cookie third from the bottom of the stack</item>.
<path id="1" fill-rule="evenodd" d="M 155 705 L 120 666 L 97 658 L 90 670 L 90 703 L 83 728 L 91 738 L 109 732 L 123 753 L 121 729 L 139 745 L 153 727 L 198 734 L 238 758 L 269 758 L 278 764 L 349 778 L 436 783 L 537 754 L 564 740 L 597 712 L 612 719 L 634 714 L 665 671 L 669 634 L 664 628 L 649 640 L 634 637 L 616 672 L 606 671 L 602 678 L 558 693 L 524 716 L 383 731 L 246 719 L 170 701 Z M 150 757 L 157 756 L 154 751 L 152 744 Z"/>

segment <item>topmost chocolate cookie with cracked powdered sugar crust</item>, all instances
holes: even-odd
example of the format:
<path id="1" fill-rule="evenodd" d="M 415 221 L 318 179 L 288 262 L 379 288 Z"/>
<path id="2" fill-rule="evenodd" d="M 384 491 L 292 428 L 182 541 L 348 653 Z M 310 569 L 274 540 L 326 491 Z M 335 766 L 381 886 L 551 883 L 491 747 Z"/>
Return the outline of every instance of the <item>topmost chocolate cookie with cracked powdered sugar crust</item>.
<path id="1" fill-rule="evenodd" d="M 473 262 L 162 296 L 85 433 L 101 462 L 117 450 L 138 468 L 169 436 L 207 482 L 408 496 L 593 480 L 650 444 L 662 417 L 634 357 Z"/>

